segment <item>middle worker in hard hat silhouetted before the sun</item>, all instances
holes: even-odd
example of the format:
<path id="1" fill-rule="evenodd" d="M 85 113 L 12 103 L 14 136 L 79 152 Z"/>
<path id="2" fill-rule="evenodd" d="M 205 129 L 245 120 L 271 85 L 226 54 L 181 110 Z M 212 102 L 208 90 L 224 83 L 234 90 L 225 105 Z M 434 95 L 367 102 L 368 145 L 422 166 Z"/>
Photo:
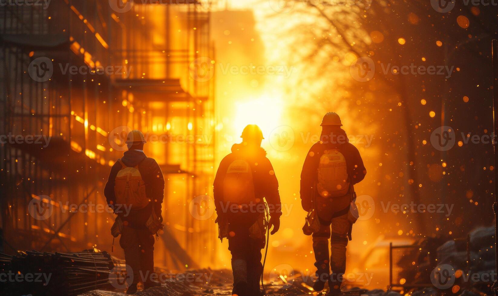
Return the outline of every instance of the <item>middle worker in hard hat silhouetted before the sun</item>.
<path id="1" fill-rule="evenodd" d="M 233 295 L 258 296 L 263 273 L 261 249 L 265 246 L 266 227 L 271 234 L 280 227 L 281 203 L 278 181 L 266 151 L 261 148 L 263 134 L 250 124 L 242 132 L 242 143 L 220 163 L 214 181 L 214 199 L 220 239 L 228 238 L 234 274 Z M 265 225 L 265 206 L 269 218 Z"/>

